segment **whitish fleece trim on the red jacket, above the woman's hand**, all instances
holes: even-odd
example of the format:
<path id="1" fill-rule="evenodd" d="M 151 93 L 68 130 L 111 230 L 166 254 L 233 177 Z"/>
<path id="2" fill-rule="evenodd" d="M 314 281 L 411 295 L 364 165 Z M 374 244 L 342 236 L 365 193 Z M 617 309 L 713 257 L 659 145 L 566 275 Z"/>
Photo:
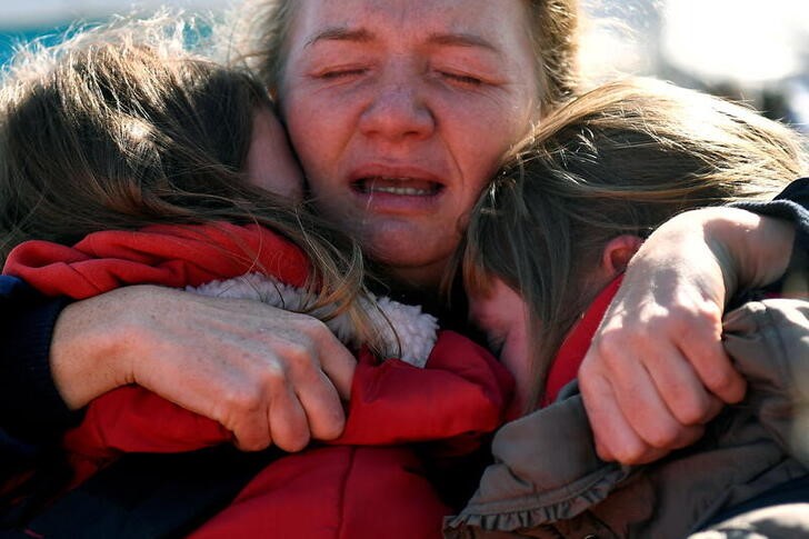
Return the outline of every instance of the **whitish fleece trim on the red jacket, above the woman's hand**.
<path id="1" fill-rule="evenodd" d="M 289 311 L 303 311 L 306 292 L 297 287 L 284 285 L 261 273 L 244 273 L 227 280 L 216 280 L 199 287 L 186 287 L 189 292 L 214 298 L 252 299 Z M 400 303 L 390 298 L 361 299 L 360 305 L 368 315 L 377 332 L 386 345 L 386 357 L 398 357 L 416 367 L 425 367 L 427 358 L 436 345 L 438 320 L 421 312 L 421 307 Z M 326 326 L 344 345 L 359 347 L 351 320 L 346 313 L 330 318 L 331 308 L 323 307 L 311 312 L 323 320 Z"/>

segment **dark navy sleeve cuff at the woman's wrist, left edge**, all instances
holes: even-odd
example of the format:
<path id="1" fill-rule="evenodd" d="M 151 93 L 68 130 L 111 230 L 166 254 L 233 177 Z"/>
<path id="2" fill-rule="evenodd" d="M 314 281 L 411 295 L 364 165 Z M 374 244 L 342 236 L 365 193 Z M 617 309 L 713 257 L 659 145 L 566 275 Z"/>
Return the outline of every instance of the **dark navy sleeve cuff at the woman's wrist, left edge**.
<path id="1" fill-rule="evenodd" d="M 53 385 L 50 343 L 64 299 L 46 298 L 21 280 L 0 276 L 0 429 L 44 441 L 76 425 Z"/>

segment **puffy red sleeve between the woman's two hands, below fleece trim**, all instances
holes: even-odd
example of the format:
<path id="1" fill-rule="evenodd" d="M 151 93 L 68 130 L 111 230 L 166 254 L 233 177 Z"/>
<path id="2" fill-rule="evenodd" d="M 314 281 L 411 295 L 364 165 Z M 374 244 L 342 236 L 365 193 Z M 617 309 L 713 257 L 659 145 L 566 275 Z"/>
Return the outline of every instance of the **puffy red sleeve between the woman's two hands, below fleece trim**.
<path id="1" fill-rule="evenodd" d="M 425 369 L 363 351 L 346 430 L 334 443 L 475 439 L 502 423 L 512 386 L 489 351 L 451 331 L 439 333 Z"/>

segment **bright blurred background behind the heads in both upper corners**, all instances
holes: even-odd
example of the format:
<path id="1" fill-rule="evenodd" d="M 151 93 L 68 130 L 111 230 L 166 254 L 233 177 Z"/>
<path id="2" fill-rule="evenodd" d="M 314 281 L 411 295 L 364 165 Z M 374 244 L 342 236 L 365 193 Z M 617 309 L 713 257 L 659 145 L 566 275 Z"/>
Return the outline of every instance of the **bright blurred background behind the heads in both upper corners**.
<path id="1" fill-rule="evenodd" d="M 74 21 L 238 0 L 0 0 L 0 64 L 16 43 L 58 40 Z M 497 0 L 492 0 L 497 1 Z M 582 0 L 586 74 L 653 74 L 743 100 L 809 132 L 809 0 Z"/>

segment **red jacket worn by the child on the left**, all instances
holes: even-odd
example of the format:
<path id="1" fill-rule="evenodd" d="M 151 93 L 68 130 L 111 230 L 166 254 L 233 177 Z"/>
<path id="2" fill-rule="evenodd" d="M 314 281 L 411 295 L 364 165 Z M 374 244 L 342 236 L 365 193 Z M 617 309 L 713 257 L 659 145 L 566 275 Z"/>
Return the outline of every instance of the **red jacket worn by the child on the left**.
<path id="1" fill-rule="evenodd" d="M 82 299 L 136 283 L 199 286 L 257 266 L 293 286 L 308 271 L 303 253 L 278 234 L 217 223 L 98 232 L 72 248 L 31 241 L 12 251 L 6 272 L 44 293 Z M 343 436 L 269 465 L 194 536 L 440 537 L 451 511 L 403 443 L 435 441 L 441 458 L 476 449 L 501 423 L 511 386 L 491 355 L 452 332 L 440 332 L 425 369 L 362 351 Z M 219 423 L 124 387 L 91 402 L 63 443 L 78 483 L 124 451 L 181 452 L 230 440 Z"/>

